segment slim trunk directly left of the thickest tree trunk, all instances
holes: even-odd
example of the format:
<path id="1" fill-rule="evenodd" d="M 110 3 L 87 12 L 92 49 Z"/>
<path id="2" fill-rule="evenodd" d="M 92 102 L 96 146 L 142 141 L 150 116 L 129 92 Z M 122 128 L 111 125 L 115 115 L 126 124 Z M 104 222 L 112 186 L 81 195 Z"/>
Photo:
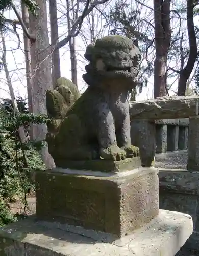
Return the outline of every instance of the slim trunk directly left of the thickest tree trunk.
<path id="1" fill-rule="evenodd" d="M 29 28 L 29 12 L 25 4 L 21 3 L 22 19 L 27 29 Z M 29 113 L 33 113 L 33 92 L 32 92 L 32 70 L 31 70 L 31 48 L 30 40 L 26 34 L 23 34 L 24 51 L 25 51 L 25 62 L 26 62 L 26 81 L 28 91 L 28 106 Z M 31 136 L 31 135 L 30 135 Z M 32 137 L 32 136 L 31 136 Z"/>

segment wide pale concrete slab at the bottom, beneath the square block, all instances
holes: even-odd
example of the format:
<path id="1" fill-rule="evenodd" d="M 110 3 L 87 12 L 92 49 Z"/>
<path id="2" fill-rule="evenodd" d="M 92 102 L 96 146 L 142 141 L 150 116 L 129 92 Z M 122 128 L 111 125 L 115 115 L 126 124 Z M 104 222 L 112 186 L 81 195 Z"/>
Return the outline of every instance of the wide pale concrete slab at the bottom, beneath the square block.
<path id="1" fill-rule="evenodd" d="M 0 229 L 1 256 L 174 256 L 192 233 L 190 215 L 160 210 L 145 227 L 118 241 L 102 242 L 36 222 L 32 216 Z"/>

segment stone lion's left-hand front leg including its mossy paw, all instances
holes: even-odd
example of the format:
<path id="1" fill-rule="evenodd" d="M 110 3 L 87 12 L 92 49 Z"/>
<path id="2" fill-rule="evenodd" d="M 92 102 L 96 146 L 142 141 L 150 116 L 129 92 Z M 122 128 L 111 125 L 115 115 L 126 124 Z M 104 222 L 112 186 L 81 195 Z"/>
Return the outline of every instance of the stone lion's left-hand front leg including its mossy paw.
<path id="1" fill-rule="evenodd" d="M 114 118 L 108 106 L 103 105 L 99 112 L 98 141 L 99 154 L 104 159 L 120 161 L 126 152 L 117 146 Z"/>

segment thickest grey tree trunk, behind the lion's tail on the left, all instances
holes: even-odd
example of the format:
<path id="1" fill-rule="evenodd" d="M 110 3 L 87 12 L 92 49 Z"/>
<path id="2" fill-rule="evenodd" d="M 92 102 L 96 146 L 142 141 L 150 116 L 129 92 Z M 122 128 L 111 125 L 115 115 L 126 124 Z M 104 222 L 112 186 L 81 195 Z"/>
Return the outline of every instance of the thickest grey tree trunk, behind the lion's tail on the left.
<path id="1" fill-rule="evenodd" d="M 33 113 L 46 114 L 46 91 L 52 88 L 50 47 L 47 30 L 46 1 L 37 0 L 39 9 L 37 16 L 29 15 L 31 34 L 35 35 L 35 42 L 31 44 Z M 46 124 L 34 125 L 33 138 L 36 141 L 45 140 Z M 47 168 L 53 168 L 55 163 L 49 155 L 47 147 L 42 149 L 42 158 Z"/>

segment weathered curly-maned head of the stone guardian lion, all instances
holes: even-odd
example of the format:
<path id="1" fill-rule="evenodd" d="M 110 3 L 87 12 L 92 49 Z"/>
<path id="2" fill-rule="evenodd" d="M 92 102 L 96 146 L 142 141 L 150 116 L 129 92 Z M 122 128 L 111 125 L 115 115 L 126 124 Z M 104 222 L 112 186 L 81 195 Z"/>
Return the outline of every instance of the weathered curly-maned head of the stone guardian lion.
<path id="1" fill-rule="evenodd" d="M 84 56 L 90 62 L 83 75 L 88 86 L 99 86 L 103 82 L 128 89 L 135 87 L 141 55 L 129 38 L 111 35 L 97 39 L 87 47 Z"/>

